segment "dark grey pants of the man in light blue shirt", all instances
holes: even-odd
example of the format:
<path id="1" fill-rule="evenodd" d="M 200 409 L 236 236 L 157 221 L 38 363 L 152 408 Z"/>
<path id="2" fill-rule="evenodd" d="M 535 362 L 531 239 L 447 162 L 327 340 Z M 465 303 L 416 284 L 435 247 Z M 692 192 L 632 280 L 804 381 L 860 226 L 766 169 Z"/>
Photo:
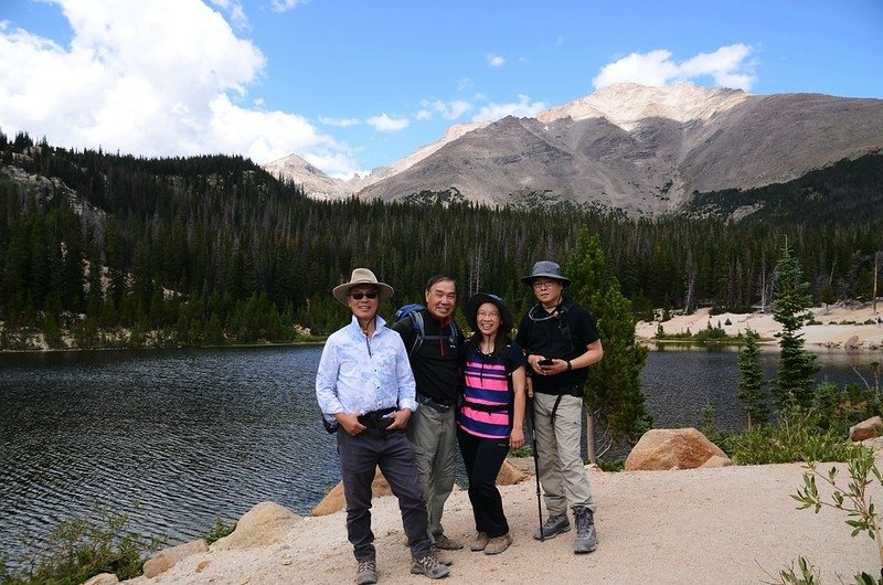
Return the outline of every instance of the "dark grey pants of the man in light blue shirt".
<path id="1" fill-rule="evenodd" d="M 426 501 L 417 481 L 414 450 L 405 432 L 387 433 L 370 427 L 352 436 L 340 428 L 338 450 L 347 499 L 347 534 L 355 560 L 361 563 L 375 559 L 374 533 L 371 531 L 371 482 L 376 466 L 398 498 L 411 556 L 423 559 L 429 554 L 432 543 L 426 531 Z"/>

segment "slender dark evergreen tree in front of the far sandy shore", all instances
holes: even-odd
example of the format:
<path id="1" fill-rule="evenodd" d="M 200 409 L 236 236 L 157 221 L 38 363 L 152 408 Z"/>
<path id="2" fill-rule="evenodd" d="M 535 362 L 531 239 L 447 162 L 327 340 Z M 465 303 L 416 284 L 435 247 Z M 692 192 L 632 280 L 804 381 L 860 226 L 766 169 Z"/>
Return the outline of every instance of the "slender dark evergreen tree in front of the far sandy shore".
<path id="1" fill-rule="evenodd" d="M 811 302 L 809 283 L 804 281 L 800 265 L 791 255 L 788 241 L 781 248 L 776 265 L 778 296 L 774 299 L 773 318 L 781 323 L 779 338 L 779 371 L 774 383 L 774 398 L 777 408 L 797 405 L 808 408 L 812 404 L 812 383 L 820 366 L 816 355 L 804 348 L 800 329 L 812 318 L 808 310 Z"/>

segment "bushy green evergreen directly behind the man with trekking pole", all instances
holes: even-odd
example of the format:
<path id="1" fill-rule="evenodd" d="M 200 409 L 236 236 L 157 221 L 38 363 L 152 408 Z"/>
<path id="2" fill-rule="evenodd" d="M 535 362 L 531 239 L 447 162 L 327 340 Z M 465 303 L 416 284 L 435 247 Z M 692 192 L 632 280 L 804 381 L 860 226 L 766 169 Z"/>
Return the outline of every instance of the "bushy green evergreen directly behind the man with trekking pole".
<path id="1" fill-rule="evenodd" d="M 604 359 L 588 368 L 584 390 L 588 458 L 596 462 L 614 444 L 634 444 L 652 427 L 640 377 L 648 350 L 635 341 L 631 302 L 610 274 L 597 236 L 585 228 L 579 232 L 579 245 L 564 270 L 573 283 L 570 294 L 595 317 L 604 347 Z"/>

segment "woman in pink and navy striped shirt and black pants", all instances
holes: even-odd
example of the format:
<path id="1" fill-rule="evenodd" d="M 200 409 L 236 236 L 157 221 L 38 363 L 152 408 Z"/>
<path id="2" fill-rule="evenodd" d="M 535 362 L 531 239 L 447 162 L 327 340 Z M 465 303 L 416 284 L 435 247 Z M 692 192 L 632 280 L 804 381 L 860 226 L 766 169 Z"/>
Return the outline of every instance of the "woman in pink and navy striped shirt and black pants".
<path id="1" fill-rule="evenodd" d="M 499 554 L 512 543 L 497 475 L 509 449 L 524 446 L 524 355 L 512 342 L 512 313 L 496 295 L 466 304 L 472 337 L 466 343 L 457 440 L 476 521 L 472 551 Z"/>

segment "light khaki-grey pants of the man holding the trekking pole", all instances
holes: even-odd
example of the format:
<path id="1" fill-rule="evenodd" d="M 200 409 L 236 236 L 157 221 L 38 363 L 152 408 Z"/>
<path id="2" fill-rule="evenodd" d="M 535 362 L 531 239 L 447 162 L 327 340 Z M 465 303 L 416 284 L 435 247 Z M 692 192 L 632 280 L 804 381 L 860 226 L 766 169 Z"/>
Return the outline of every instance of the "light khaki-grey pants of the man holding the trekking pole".
<path id="1" fill-rule="evenodd" d="M 540 482 L 545 494 L 545 508 L 550 515 L 566 514 L 568 503 L 571 508 L 585 506 L 594 513 L 592 486 L 579 454 L 583 400 L 562 396 L 553 423 L 552 408 L 556 398 L 538 393 L 533 401 Z"/>

